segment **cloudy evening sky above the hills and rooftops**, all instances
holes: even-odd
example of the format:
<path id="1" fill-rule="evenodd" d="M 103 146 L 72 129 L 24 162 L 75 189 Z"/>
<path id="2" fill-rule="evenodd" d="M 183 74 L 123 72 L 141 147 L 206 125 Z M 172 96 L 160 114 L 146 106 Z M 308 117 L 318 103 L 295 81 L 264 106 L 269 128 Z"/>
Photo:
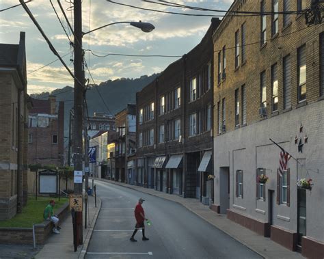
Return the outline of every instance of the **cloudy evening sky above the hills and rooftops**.
<path id="1" fill-rule="evenodd" d="M 114 0 L 118 3 L 135 5 L 141 8 L 181 12 L 187 14 L 211 14 L 215 12 L 201 12 L 187 8 L 172 8 L 157 3 L 140 0 Z M 172 1 L 172 0 L 171 0 Z M 57 0 L 52 0 L 63 26 L 68 31 L 68 25 L 59 9 Z M 66 15 L 73 25 L 73 12 L 70 0 L 60 1 L 66 10 Z M 180 3 L 202 8 L 228 10 L 233 0 L 173 0 Z M 0 0 L 0 9 L 18 4 L 18 0 Z M 40 23 L 46 36 L 63 57 L 64 62 L 73 70 L 71 59 L 72 49 L 64 29 L 59 24 L 57 16 L 49 0 L 33 0 L 27 3 L 29 10 Z M 128 55 L 176 55 L 182 56 L 197 45 L 209 25 L 211 17 L 182 16 L 163 14 L 146 10 L 138 10 L 126 6 L 110 3 L 105 0 L 83 0 L 83 32 L 90 31 L 108 23 L 120 21 L 142 21 L 152 23 L 155 29 L 144 33 L 140 29 L 128 24 L 111 25 L 94 31 L 83 37 L 83 49 L 91 49 L 96 55 L 119 53 Z M 18 6 L 0 12 L 0 43 L 18 44 L 19 32 L 26 33 L 27 81 L 28 93 L 51 92 L 66 85 L 73 86 L 70 74 L 57 61 L 36 72 L 45 64 L 53 62 L 57 57 L 50 51 L 48 44 L 33 24 L 23 7 Z M 70 32 L 68 31 L 70 35 Z M 70 37 L 73 40 L 72 37 Z M 90 44 L 89 44 L 90 43 Z M 95 57 L 90 51 L 85 51 L 85 59 L 90 68 L 95 83 L 114 80 L 121 77 L 137 78 L 141 75 L 162 72 L 169 64 L 179 57 L 124 57 L 109 55 Z M 85 74 L 88 77 L 88 74 Z"/>

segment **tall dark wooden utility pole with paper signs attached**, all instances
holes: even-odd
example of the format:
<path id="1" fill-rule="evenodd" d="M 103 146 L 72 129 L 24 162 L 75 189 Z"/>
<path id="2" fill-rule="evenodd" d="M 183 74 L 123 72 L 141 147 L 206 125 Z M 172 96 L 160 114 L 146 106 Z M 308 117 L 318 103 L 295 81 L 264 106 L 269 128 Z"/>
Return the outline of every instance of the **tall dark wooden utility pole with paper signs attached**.
<path id="1" fill-rule="evenodd" d="M 75 15 L 75 120 L 73 124 L 73 158 L 75 171 L 82 172 L 83 141 L 82 141 L 82 116 L 83 116 L 83 90 L 84 90 L 84 70 L 83 70 L 83 49 L 82 49 L 82 0 L 74 1 Z M 80 84 L 81 83 L 81 84 Z M 82 194 L 82 182 L 74 186 L 75 194 Z M 77 223 L 77 245 L 83 243 L 82 211 L 76 212 Z"/>

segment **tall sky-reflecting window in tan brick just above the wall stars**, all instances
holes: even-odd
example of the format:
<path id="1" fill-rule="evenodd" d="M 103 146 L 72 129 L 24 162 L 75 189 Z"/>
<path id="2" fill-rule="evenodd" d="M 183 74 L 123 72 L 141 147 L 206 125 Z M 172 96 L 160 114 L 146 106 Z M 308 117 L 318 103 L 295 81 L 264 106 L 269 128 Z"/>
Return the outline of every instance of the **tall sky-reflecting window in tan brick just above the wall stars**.
<path id="1" fill-rule="evenodd" d="M 306 100 L 306 45 L 297 49 L 298 102 Z"/>

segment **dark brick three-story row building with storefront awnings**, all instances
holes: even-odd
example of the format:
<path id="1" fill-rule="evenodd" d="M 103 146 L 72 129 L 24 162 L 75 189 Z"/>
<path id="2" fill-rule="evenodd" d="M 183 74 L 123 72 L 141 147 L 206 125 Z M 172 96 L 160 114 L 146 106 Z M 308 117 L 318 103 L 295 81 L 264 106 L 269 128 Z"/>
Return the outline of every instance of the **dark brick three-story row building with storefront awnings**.
<path id="1" fill-rule="evenodd" d="M 137 93 L 137 185 L 208 204 L 213 138 L 213 40 L 200 44 Z"/>

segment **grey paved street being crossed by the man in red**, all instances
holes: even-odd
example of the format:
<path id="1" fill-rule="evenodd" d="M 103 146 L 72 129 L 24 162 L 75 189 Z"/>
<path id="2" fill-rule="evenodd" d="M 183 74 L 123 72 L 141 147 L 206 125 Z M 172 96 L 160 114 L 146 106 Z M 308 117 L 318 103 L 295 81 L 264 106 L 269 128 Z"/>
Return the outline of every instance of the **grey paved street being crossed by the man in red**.
<path id="1" fill-rule="evenodd" d="M 86 258 L 260 258 L 189 210 L 159 197 L 96 181 L 102 207 L 87 250 Z M 141 241 L 135 226 L 134 206 L 139 197 L 146 217 L 150 241 Z"/>

